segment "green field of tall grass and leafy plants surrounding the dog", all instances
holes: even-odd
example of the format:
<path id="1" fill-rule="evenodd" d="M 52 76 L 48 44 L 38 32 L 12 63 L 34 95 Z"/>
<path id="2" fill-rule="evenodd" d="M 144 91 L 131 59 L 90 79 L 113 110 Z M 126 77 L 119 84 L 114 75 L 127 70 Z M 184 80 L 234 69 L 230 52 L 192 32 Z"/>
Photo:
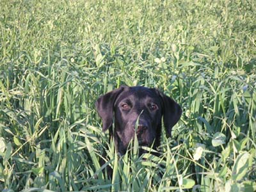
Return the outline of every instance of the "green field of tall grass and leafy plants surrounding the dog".
<path id="1" fill-rule="evenodd" d="M 102 132 L 122 84 L 182 106 L 161 156 Z M 0 0 L 0 190 L 256 191 L 255 162 L 255 1 Z"/>

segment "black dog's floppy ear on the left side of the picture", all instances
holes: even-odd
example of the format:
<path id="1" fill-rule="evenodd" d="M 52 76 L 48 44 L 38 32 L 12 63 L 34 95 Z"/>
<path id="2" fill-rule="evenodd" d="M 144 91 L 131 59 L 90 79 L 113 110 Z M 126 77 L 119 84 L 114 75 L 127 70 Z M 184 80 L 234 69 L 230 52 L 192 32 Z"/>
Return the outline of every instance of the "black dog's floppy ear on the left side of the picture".
<path id="1" fill-rule="evenodd" d="M 102 119 L 102 130 L 106 131 L 113 123 L 113 108 L 115 100 L 118 95 L 124 90 L 125 86 L 120 86 L 120 88 L 108 92 L 105 95 L 102 95 L 95 102 L 97 112 L 99 113 L 100 118 Z"/>

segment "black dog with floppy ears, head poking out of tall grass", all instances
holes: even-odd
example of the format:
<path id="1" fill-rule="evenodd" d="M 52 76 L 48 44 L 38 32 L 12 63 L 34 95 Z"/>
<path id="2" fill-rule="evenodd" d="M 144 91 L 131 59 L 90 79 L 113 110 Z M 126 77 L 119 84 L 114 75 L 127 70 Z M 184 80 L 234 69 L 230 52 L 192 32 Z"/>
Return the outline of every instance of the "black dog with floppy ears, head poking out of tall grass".
<path id="1" fill-rule="evenodd" d="M 95 105 L 102 118 L 103 131 L 110 128 L 120 154 L 125 154 L 135 132 L 139 145 L 151 147 L 154 143 L 153 148 L 156 149 L 160 145 L 162 116 L 166 134 L 171 136 L 172 127 L 182 113 L 173 99 L 155 88 L 143 86 L 120 86 L 99 97 Z"/>

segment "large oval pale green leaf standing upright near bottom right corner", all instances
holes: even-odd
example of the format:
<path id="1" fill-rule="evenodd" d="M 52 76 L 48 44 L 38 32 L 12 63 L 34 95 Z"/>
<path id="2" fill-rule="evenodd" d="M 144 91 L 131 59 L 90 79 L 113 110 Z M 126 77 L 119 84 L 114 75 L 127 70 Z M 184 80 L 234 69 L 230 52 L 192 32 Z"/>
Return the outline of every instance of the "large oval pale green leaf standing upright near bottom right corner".
<path id="1" fill-rule="evenodd" d="M 248 152 L 244 152 L 243 154 L 237 156 L 232 170 L 233 180 L 241 180 L 243 179 L 244 175 L 246 175 L 249 166 L 249 157 L 250 154 Z"/>

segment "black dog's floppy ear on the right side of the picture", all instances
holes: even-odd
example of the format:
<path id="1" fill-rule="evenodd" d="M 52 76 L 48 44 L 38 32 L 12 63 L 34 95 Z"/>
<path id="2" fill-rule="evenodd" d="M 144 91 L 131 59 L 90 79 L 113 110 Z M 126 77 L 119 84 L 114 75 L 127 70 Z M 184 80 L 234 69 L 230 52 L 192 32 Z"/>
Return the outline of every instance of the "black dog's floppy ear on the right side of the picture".
<path id="1" fill-rule="evenodd" d="M 182 114 L 182 109 L 180 105 L 177 104 L 172 98 L 164 95 L 159 92 L 159 95 L 162 100 L 162 108 L 163 108 L 163 119 L 164 119 L 164 127 L 166 130 L 167 136 L 172 136 L 172 127 L 177 124 Z"/>

